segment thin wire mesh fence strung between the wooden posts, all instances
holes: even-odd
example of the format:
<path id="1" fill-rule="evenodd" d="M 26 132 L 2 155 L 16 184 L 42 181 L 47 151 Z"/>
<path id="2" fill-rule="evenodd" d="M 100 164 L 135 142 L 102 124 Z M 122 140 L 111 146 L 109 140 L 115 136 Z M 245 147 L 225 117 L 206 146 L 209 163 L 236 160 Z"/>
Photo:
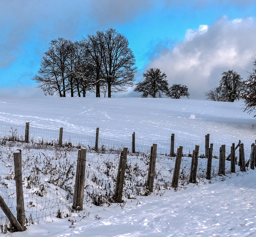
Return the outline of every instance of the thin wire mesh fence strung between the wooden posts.
<path id="1" fill-rule="evenodd" d="M 0 124 L 0 137 L 2 141 L 23 141 L 25 127 L 21 125 Z M 95 145 L 95 134 L 71 133 L 63 131 L 62 142 L 67 146 L 86 147 L 92 150 Z M 42 151 L 35 152 L 34 143 L 39 145 L 58 144 L 59 131 L 53 129 L 39 129 L 30 127 L 30 147 L 24 143 L 22 151 L 22 177 L 26 218 L 28 223 L 39 223 L 40 220 L 51 221 L 52 217 L 67 217 L 72 211 L 74 194 L 74 177 L 76 162 L 68 159 L 67 149 L 59 148 L 52 155 L 46 155 Z M 1 141 L 1 140 L 0 140 Z M 174 175 L 175 157 L 170 157 L 171 140 L 145 140 L 135 139 L 136 153 L 131 154 L 132 135 L 130 137 L 112 137 L 100 134 L 98 148 L 100 153 L 92 150 L 86 157 L 86 171 L 84 183 L 84 203 L 86 205 L 102 205 L 113 202 L 116 177 L 120 160 L 120 151 L 128 147 L 130 155 L 127 157 L 124 179 L 123 195 L 127 199 L 134 199 L 138 195 L 148 195 L 146 187 L 150 149 L 152 144 L 157 144 L 156 169 L 154 189 L 161 191 L 172 187 Z M 211 176 L 216 177 L 219 172 L 219 149 L 222 142 L 212 142 L 213 159 Z M 4 144 L 4 142 L 3 142 Z M 23 145 L 21 145 L 23 144 Z M 226 157 L 230 154 L 232 143 L 226 144 Z M 16 144 L 17 145 L 17 144 Z M 199 145 L 197 181 L 205 179 L 207 159 L 204 157 L 205 140 L 178 140 L 175 139 L 174 147 L 183 147 L 183 157 L 180 166 L 179 186 L 186 185 L 190 176 L 191 154 L 195 145 Z M 9 145 L 10 146 L 10 145 Z M 13 145 L 15 146 L 15 145 Z M 53 150 L 57 146 L 53 147 Z M 112 152 L 112 151 L 118 151 Z M 69 151 L 68 151 L 69 152 Z M 76 151 L 70 151 L 74 157 Z M 112 154 L 110 154 L 112 153 Z M 245 159 L 250 159 L 251 150 L 245 149 Z M 236 164 L 238 164 L 239 151 L 236 150 Z M 5 158 L 4 158 L 5 157 Z M 16 212 L 16 185 L 13 169 L 12 150 L 0 146 L 0 161 L 3 163 L 0 174 L 0 195 L 12 211 Z M 240 166 L 236 165 L 236 172 Z M 226 161 L 225 173 L 230 173 L 230 161 Z M 10 230 L 10 223 L 3 212 L 0 211 L 0 228 L 2 233 Z"/>

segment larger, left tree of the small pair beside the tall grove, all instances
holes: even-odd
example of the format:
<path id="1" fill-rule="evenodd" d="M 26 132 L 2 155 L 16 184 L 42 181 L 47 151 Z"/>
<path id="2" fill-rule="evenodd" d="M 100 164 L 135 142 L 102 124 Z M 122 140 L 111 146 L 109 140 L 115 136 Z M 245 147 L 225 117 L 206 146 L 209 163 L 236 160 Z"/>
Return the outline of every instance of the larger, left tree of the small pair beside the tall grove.
<path id="1" fill-rule="evenodd" d="M 169 92 L 167 76 L 159 68 L 150 68 L 143 76 L 144 81 L 138 82 L 134 89 L 135 92 L 142 92 L 141 97 L 161 98 L 162 94 Z"/>

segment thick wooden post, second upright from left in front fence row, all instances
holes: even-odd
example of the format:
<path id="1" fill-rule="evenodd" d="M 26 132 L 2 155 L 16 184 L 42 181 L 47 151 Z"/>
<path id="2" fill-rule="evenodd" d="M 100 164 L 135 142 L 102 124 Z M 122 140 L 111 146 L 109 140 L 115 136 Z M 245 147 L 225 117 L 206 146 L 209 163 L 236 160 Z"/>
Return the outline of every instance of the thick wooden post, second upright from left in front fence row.
<path id="1" fill-rule="evenodd" d="M 82 148 L 78 151 L 76 164 L 76 181 L 74 187 L 73 209 L 81 211 L 84 201 L 84 176 L 86 166 L 86 149 Z"/>

